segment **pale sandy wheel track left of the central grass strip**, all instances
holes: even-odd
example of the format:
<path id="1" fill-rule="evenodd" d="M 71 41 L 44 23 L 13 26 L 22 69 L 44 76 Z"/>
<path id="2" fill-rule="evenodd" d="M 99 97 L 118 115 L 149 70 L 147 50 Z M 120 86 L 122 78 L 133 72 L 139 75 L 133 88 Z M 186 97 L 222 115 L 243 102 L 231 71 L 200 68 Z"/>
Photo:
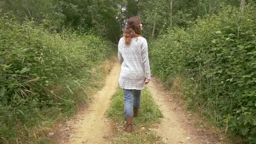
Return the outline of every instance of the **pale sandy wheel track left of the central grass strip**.
<path id="1" fill-rule="evenodd" d="M 104 113 L 109 107 L 111 96 L 118 86 L 120 65 L 115 62 L 107 76 L 105 86 L 96 94 L 94 102 L 84 112 L 78 113 L 80 118 L 72 126 L 73 137 L 65 144 L 105 144 L 104 138 L 109 131 L 109 123 Z M 80 119 L 80 120 L 79 120 Z"/>

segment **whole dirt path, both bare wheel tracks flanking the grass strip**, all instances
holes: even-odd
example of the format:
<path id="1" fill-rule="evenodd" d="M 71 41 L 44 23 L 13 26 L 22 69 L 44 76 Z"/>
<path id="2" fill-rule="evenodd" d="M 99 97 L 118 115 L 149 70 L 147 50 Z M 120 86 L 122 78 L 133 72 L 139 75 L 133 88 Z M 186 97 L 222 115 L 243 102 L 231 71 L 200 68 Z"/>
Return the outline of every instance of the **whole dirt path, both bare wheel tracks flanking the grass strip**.
<path id="1" fill-rule="evenodd" d="M 96 99 L 84 111 L 67 122 L 64 131 L 68 134 L 59 134 L 58 144 L 109 144 L 108 136 L 111 137 L 111 130 L 106 116 L 111 96 L 118 87 L 120 65 L 115 62 L 110 74 L 107 76 L 105 86 L 94 96 Z M 155 129 L 168 144 L 221 144 L 218 137 L 206 132 L 204 128 L 199 130 L 192 125 L 191 117 L 182 110 L 176 109 L 174 103 L 170 102 L 168 91 L 160 83 L 152 80 L 147 86 L 153 98 L 160 106 L 164 115 L 163 121 Z M 202 126 L 202 125 L 201 125 Z"/>

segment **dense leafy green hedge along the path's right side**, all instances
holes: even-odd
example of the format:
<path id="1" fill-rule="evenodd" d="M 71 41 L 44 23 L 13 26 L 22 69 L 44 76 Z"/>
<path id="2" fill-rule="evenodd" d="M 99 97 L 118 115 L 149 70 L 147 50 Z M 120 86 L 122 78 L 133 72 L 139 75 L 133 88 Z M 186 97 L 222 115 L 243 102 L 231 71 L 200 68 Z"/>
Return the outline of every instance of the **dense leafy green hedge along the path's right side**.
<path id="1" fill-rule="evenodd" d="M 177 76 L 191 107 L 243 141 L 256 141 L 256 8 L 225 6 L 218 15 L 176 28 L 150 43 L 153 71 L 165 85 Z"/>

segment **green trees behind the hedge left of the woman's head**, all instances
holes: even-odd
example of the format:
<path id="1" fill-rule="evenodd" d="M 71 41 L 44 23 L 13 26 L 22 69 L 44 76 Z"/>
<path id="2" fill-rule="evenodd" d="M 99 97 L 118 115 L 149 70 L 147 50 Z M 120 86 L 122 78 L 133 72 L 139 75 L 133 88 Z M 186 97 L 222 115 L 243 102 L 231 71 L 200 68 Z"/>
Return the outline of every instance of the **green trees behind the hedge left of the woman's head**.
<path id="1" fill-rule="evenodd" d="M 29 19 L 57 32 L 72 27 L 118 43 L 123 6 L 123 0 L 1 0 L 0 11 L 21 23 Z"/>

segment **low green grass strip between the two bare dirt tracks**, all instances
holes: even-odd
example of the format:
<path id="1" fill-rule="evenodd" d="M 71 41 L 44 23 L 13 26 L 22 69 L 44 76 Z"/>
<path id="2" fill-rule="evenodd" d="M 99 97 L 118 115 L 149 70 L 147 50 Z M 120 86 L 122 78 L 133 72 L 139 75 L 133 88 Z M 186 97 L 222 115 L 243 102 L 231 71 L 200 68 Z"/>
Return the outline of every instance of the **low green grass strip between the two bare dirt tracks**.
<path id="1" fill-rule="evenodd" d="M 125 119 L 123 107 L 123 90 L 118 88 L 117 92 L 112 96 L 112 104 L 107 112 L 107 115 L 113 122 L 118 123 L 118 125 L 122 125 L 124 130 Z M 160 112 L 160 109 L 155 103 L 154 99 L 152 98 L 151 93 L 145 89 L 142 91 L 141 109 L 139 111 L 139 116 L 133 119 L 133 132 L 131 134 L 127 134 L 127 132 L 123 130 L 114 130 L 114 138 L 112 143 L 155 144 L 162 141 L 160 136 L 157 136 L 156 133 L 150 130 L 154 127 L 155 123 L 160 122 L 160 118 L 162 117 L 163 115 Z"/>

